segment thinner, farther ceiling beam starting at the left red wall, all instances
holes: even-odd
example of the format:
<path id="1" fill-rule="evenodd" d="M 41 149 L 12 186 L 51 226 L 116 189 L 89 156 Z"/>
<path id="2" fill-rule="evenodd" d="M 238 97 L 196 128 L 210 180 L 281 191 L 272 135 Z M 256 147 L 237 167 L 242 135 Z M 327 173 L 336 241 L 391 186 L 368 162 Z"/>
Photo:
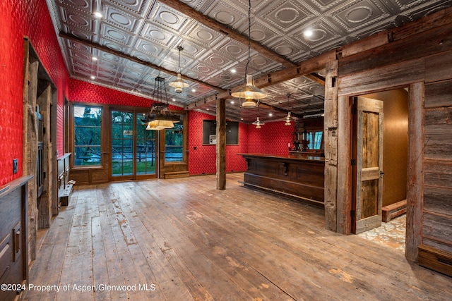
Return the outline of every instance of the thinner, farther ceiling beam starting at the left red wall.
<path id="1" fill-rule="evenodd" d="M 170 75 L 173 75 L 173 76 L 177 76 L 177 72 L 174 72 L 174 71 L 171 71 L 171 70 L 167 70 L 165 68 L 157 66 L 157 65 L 155 65 L 153 63 L 149 63 L 147 61 L 142 61 L 141 59 L 138 59 L 138 58 L 136 58 L 134 56 L 129 56 L 128 54 L 124 54 L 121 51 L 116 51 L 116 50 L 113 50 L 113 49 L 109 49 L 108 47 L 105 47 L 105 46 L 102 46 L 100 44 L 91 42 L 88 39 L 81 39 L 80 37 L 76 37 L 75 35 L 70 35 L 70 34 L 67 34 L 67 33 L 64 33 L 64 32 L 60 32 L 59 36 L 64 38 L 64 39 L 69 39 L 69 40 L 71 40 L 73 42 L 79 42 L 79 43 L 87 45 L 89 47 L 93 47 L 95 49 L 99 49 L 101 51 L 107 52 L 108 54 L 113 54 L 114 56 L 119 56 L 119 57 L 121 57 L 123 59 L 129 60 L 129 61 L 133 61 L 135 63 L 140 63 L 143 66 L 147 66 L 149 68 L 153 68 L 155 70 L 159 70 L 159 71 L 165 72 L 167 74 L 170 74 Z M 220 87 L 217 87 L 217 86 L 214 86 L 214 85 L 210 85 L 207 82 L 203 82 L 201 80 L 196 80 L 194 78 L 189 78 L 189 77 L 184 76 L 184 75 L 181 75 L 181 77 L 184 80 L 189 80 L 191 82 L 196 82 L 196 83 L 198 83 L 200 85 L 205 85 L 206 87 L 210 87 L 210 89 L 214 89 L 214 90 L 217 90 L 219 92 L 227 92 L 227 90 L 224 90 L 224 89 L 222 89 Z"/>

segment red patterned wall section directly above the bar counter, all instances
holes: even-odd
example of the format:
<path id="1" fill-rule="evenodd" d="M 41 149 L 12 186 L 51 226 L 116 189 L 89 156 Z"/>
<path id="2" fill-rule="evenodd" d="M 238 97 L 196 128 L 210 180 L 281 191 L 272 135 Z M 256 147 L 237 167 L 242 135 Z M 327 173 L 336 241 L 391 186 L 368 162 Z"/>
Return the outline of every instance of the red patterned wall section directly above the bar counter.
<path id="1" fill-rule="evenodd" d="M 288 143 L 292 146 L 292 133 L 294 124 L 285 125 L 284 121 L 269 122 L 256 128 L 256 125 L 249 125 L 249 153 L 258 154 L 289 154 Z"/>

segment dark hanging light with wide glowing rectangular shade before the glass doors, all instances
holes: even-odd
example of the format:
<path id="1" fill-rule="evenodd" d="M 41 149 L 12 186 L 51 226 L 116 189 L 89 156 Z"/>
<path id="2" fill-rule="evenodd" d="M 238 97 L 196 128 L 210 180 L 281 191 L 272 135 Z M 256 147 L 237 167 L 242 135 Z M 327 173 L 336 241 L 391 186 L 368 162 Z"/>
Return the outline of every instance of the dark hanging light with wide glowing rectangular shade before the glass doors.
<path id="1" fill-rule="evenodd" d="M 179 115 L 170 113 L 168 110 L 165 78 L 160 76 L 155 78 L 153 99 L 155 102 L 150 108 L 150 113 L 141 119 L 143 123 L 148 123 L 146 130 L 174 128 L 174 122 L 179 121 Z"/>

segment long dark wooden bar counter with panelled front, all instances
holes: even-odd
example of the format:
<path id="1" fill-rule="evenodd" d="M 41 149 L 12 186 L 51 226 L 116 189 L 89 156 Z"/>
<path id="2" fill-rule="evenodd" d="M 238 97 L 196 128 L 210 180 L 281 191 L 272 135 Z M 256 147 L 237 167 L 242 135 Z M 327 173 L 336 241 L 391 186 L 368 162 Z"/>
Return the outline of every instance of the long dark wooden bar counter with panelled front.
<path id="1" fill-rule="evenodd" d="M 246 159 L 244 187 L 323 207 L 325 158 L 307 154 L 239 154 Z"/>

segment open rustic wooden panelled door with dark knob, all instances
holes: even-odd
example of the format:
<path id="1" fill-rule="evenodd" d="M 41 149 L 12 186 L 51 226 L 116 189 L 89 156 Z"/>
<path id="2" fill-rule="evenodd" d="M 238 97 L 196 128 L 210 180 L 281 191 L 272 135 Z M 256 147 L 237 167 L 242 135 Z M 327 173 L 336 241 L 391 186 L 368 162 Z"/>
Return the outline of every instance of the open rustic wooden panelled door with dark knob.
<path id="1" fill-rule="evenodd" d="M 355 97 L 354 233 L 381 226 L 383 191 L 383 102 Z"/>

